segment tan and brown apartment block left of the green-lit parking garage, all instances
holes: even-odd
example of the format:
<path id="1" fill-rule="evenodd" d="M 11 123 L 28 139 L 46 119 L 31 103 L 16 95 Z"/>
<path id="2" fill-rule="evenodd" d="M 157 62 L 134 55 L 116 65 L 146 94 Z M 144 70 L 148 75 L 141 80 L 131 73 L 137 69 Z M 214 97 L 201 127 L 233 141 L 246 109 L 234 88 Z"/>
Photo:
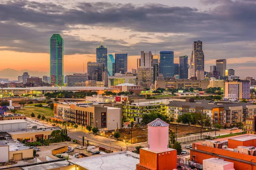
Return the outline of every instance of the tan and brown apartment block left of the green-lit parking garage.
<path id="1" fill-rule="evenodd" d="M 54 103 L 54 118 L 80 127 L 98 127 L 99 130 L 114 130 L 116 125 L 121 128 L 121 108 L 102 105 Z"/>

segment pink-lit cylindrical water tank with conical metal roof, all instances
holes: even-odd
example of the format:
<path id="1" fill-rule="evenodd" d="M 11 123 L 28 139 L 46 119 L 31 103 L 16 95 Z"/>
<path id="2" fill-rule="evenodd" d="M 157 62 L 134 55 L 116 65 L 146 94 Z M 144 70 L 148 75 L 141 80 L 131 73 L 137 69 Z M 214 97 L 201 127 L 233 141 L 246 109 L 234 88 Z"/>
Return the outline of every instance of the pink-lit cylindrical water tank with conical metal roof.
<path id="1" fill-rule="evenodd" d="M 157 118 L 148 123 L 148 150 L 165 152 L 169 148 L 169 124 Z"/>

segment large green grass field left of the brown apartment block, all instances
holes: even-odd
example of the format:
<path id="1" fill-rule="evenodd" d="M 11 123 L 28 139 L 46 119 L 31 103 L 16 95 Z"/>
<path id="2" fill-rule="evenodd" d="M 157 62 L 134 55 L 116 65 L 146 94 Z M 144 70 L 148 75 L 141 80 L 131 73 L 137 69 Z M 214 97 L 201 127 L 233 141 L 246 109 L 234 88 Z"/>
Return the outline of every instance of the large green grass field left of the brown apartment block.
<path id="1" fill-rule="evenodd" d="M 21 108 L 21 110 L 17 110 L 18 114 L 24 114 L 28 117 L 31 117 L 30 114 L 34 112 L 35 117 L 38 116 L 38 114 L 41 114 L 46 116 L 46 117 L 51 117 L 53 116 L 53 110 L 49 108 L 39 108 L 39 107 L 30 107 L 30 108 Z"/>

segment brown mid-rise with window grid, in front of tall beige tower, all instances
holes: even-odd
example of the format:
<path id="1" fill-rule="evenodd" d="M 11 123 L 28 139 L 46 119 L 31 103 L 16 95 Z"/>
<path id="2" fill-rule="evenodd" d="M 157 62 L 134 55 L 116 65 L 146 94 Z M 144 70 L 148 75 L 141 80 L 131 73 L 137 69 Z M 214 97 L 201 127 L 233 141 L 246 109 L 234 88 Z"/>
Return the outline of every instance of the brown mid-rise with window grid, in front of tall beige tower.
<path id="1" fill-rule="evenodd" d="M 151 68 L 138 68 L 138 85 L 141 85 L 143 88 L 149 88 L 151 85 Z"/>

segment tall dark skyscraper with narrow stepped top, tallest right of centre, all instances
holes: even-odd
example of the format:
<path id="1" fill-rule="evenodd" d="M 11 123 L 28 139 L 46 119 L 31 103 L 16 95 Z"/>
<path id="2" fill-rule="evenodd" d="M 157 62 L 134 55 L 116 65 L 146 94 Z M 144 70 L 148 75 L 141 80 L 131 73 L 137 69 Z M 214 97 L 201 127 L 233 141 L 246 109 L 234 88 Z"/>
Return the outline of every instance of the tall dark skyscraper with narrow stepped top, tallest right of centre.
<path id="1" fill-rule="evenodd" d="M 190 58 L 190 65 L 194 69 L 194 72 L 193 72 L 194 77 L 196 76 L 196 71 L 204 71 L 203 42 L 201 41 L 193 42 L 193 51 Z"/>

